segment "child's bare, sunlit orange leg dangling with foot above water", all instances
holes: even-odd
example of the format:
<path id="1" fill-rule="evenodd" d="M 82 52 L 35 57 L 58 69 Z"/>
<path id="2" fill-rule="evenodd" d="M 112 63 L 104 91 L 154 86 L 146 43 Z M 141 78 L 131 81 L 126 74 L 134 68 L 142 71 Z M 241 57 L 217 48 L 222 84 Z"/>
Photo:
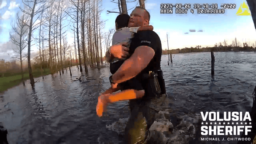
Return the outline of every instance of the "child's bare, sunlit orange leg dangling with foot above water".
<path id="1" fill-rule="evenodd" d="M 116 94 L 106 94 L 101 95 L 98 98 L 98 105 L 96 107 L 96 112 L 98 116 L 102 116 L 102 113 L 105 112 L 106 106 L 108 103 L 114 103 L 117 101 L 126 101 L 130 99 L 138 99 L 143 97 L 145 94 L 144 90 L 123 90 L 122 92 Z"/>

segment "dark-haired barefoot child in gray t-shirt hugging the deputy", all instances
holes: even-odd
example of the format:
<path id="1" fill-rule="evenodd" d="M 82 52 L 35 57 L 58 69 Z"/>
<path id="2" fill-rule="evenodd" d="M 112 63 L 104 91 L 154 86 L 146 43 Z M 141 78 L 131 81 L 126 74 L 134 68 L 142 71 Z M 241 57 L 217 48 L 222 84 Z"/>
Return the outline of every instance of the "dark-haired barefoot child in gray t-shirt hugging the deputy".
<path id="1" fill-rule="evenodd" d="M 127 14 L 118 15 L 115 24 L 116 24 L 116 32 L 113 35 L 112 45 L 116 45 L 121 42 L 127 42 L 126 47 L 130 47 L 131 39 L 134 37 L 134 33 L 140 30 L 153 30 L 153 26 L 143 26 L 143 27 L 131 27 L 128 28 L 130 16 Z M 119 60 L 118 58 L 114 58 L 110 62 L 110 72 L 114 74 L 119 67 L 122 65 L 124 60 Z M 125 84 L 124 84 L 125 83 Z M 142 88 L 142 84 L 139 80 L 131 79 L 126 82 L 122 82 L 122 85 L 129 85 L 127 89 L 124 88 L 122 92 L 112 94 L 113 92 L 117 92 L 120 90 L 120 84 L 116 88 L 109 88 L 105 92 L 103 92 L 98 97 L 98 104 L 96 107 L 96 112 L 98 116 L 102 116 L 102 113 L 105 111 L 107 103 L 113 103 L 116 101 L 123 101 L 129 99 L 141 98 L 144 96 L 144 90 Z M 142 91 L 143 90 L 143 91 Z"/>

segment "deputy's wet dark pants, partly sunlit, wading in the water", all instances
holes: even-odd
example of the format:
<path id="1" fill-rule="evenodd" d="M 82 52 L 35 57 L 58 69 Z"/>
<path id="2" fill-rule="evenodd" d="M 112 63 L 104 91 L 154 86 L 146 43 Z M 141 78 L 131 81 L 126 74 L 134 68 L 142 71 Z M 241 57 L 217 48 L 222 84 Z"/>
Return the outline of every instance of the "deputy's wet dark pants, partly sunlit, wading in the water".
<path id="1" fill-rule="evenodd" d="M 156 120 L 166 94 L 160 97 L 143 97 L 129 101 L 130 118 L 125 127 L 126 144 L 146 144 L 149 138 L 149 128 Z"/>

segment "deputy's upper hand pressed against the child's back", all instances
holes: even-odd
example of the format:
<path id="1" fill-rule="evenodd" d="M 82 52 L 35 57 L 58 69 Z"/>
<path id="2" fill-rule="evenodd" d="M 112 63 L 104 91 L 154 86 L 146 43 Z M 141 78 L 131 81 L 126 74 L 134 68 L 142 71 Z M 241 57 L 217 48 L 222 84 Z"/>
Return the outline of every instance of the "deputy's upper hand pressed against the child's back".
<path id="1" fill-rule="evenodd" d="M 125 60 L 129 54 L 129 48 L 125 47 L 127 43 L 119 43 L 118 45 L 112 45 L 109 49 L 111 55 L 115 58 Z"/>

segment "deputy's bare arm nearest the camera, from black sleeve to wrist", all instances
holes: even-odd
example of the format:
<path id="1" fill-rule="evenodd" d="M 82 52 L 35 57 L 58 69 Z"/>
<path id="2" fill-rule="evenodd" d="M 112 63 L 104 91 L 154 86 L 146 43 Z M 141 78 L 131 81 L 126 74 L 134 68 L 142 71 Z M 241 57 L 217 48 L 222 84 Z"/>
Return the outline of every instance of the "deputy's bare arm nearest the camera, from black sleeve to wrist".
<path id="1" fill-rule="evenodd" d="M 120 83 L 132 79 L 147 67 L 154 57 L 154 49 L 148 46 L 139 46 L 134 54 L 125 60 L 117 72 L 112 76 L 113 82 Z"/>

